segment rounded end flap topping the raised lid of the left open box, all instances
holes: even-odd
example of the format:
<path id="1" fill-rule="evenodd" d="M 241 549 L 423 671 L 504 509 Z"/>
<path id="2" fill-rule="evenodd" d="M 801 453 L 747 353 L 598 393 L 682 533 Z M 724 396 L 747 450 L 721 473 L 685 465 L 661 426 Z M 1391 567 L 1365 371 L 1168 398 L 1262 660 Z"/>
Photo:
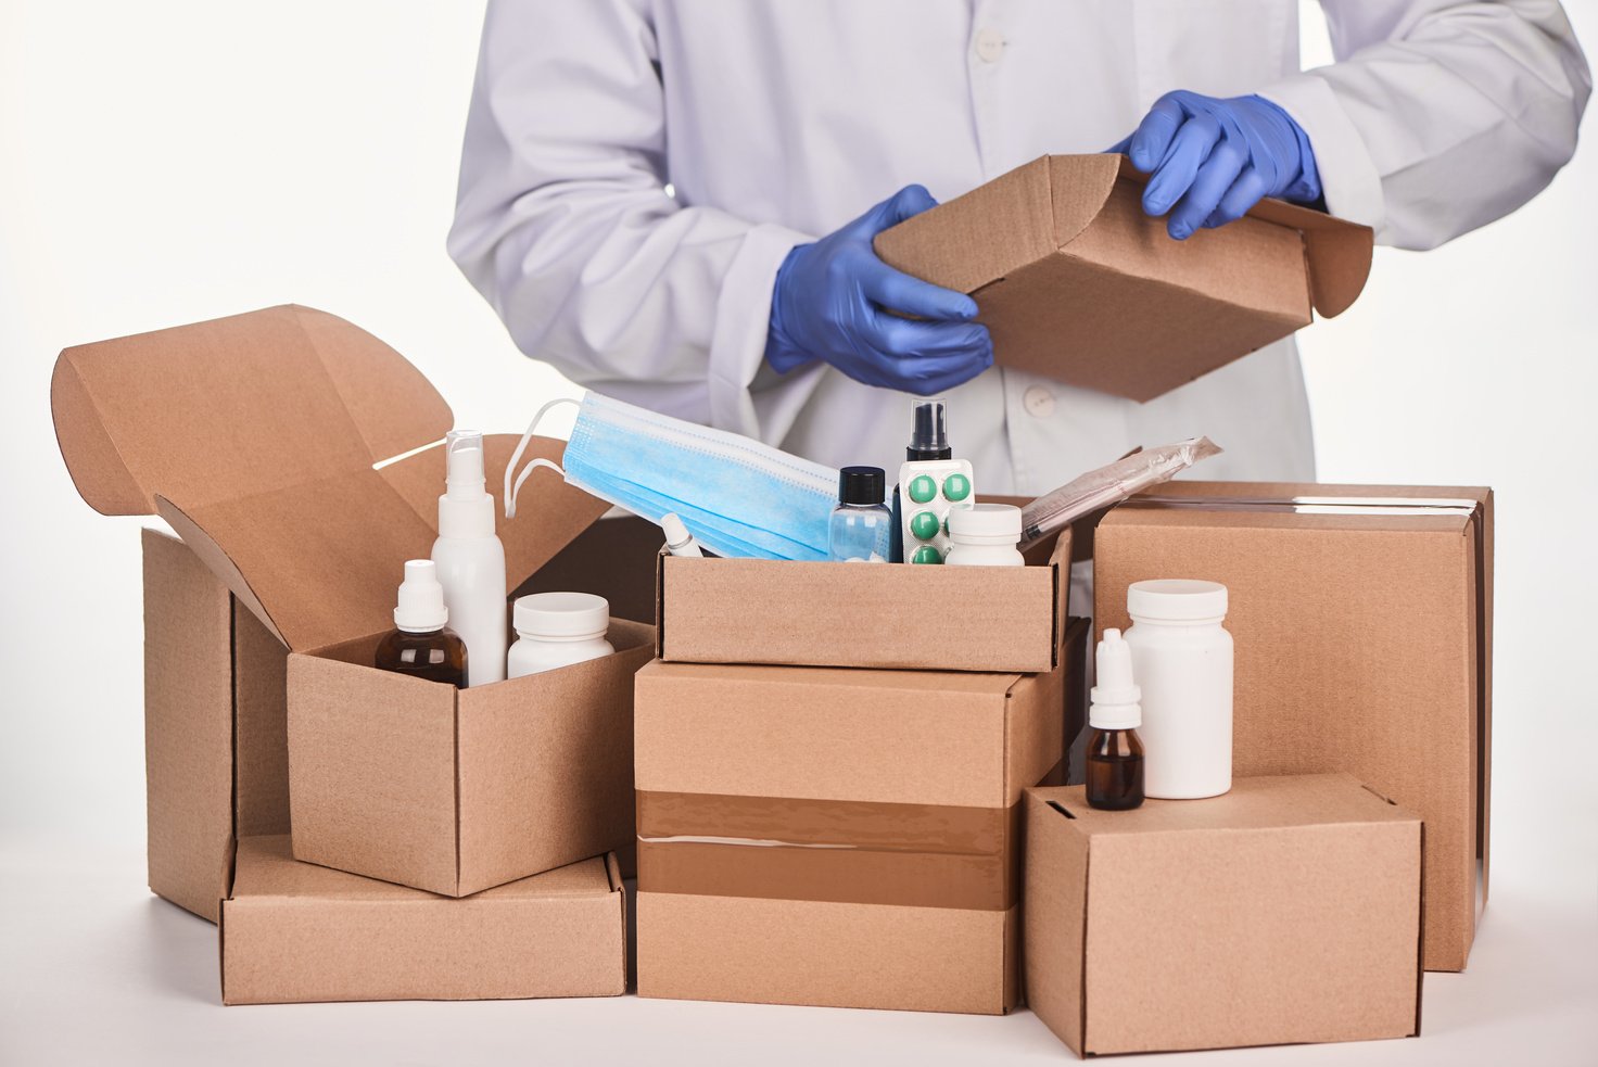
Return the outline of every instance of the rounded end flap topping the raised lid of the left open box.
<path id="1" fill-rule="evenodd" d="M 102 514 L 371 468 L 452 422 L 398 351 L 296 305 L 67 348 L 50 398 L 72 481 Z"/>

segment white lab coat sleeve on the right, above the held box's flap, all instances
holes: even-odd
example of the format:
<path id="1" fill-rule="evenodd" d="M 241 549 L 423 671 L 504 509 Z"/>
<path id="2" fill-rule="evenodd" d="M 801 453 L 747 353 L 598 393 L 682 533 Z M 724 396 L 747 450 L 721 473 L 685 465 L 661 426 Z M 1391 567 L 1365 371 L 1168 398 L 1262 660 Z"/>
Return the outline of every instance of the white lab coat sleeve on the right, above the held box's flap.
<path id="1" fill-rule="evenodd" d="M 1333 214 L 1435 248 L 1540 192 L 1592 73 L 1555 0 L 1322 0 L 1338 58 L 1261 96 L 1309 134 Z"/>

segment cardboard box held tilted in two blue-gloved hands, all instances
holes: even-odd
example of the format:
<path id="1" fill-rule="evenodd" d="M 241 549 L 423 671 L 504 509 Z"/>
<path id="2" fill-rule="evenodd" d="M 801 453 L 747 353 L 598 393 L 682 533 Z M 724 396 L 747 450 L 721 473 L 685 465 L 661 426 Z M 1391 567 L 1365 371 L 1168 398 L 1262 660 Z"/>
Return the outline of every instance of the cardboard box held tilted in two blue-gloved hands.
<path id="1" fill-rule="evenodd" d="M 890 265 L 970 292 L 1002 366 L 1147 401 L 1339 315 L 1368 227 L 1262 200 L 1173 241 L 1125 157 L 1042 157 L 876 238 Z"/>

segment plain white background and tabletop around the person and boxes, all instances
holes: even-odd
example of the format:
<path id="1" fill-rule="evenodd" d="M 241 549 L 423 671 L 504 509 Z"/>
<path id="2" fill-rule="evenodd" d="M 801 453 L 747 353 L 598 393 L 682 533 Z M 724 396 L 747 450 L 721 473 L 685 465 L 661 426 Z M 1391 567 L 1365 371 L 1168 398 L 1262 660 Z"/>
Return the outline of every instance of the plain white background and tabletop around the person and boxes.
<path id="1" fill-rule="evenodd" d="M 1598 0 L 1566 5 L 1598 48 Z M 1307 5 L 1306 62 L 1326 58 Z M 1059 1062 L 1005 1019 L 644 1002 L 217 1006 L 216 934 L 144 888 L 137 519 L 77 497 L 70 343 L 296 300 L 460 423 L 572 393 L 444 256 L 481 3 L 0 0 L 0 1062 Z M 1592 121 L 1587 123 L 1588 131 Z M 1493 902 L 1425 1037 L 1191 1062 L 1598 1062 L 1598 152 L 1301 337 L 1323 481 L 1497 489 Z M 1187 1062 L 1187 1061 L 1183 1061 Z"/>

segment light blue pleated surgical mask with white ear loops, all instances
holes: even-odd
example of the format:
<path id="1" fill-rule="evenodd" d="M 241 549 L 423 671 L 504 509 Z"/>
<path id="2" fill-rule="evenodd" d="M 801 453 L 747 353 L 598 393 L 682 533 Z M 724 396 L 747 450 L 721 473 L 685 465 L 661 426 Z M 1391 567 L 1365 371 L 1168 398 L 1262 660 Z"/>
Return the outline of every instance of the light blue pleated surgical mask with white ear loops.
<path id="1" fill-rule="evenodd" d="M 729 557 L 826 559 L 837 471 L 749 438 L 710 430 L 590 391 L 566 444 L 564 470 L 532 460 L 511 484 L 527 441 L 555 404 L 532 417 L 505 468 L 505 516 L 539 466 L 618 508 L 660 522 L 676 511 L 710 551 Z"/>

